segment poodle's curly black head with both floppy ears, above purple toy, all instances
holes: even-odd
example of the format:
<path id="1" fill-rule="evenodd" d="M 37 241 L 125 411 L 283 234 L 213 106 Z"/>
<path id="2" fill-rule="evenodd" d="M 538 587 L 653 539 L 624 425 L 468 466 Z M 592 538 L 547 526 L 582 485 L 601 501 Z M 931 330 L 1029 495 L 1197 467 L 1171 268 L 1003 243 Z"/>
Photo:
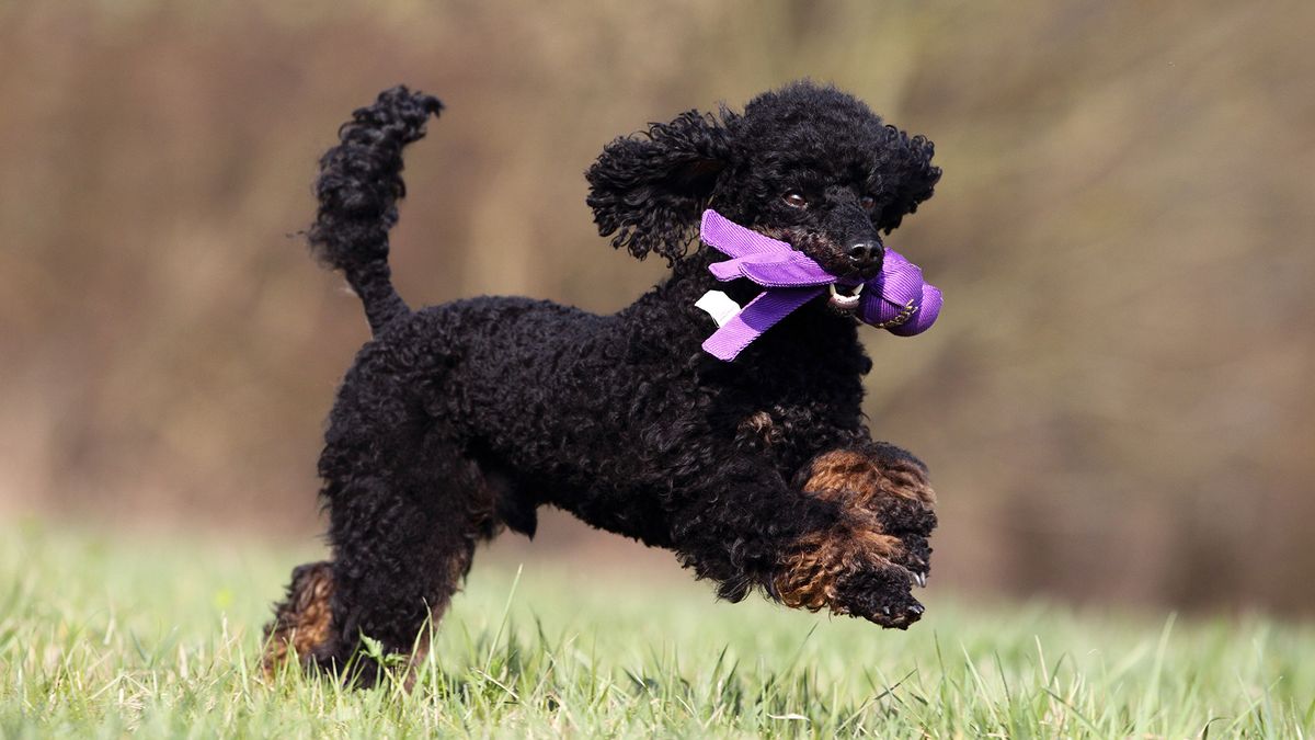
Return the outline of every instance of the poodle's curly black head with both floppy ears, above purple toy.
<path id="1" fill-rule="evenodd" d="M 613 141 L 585 172 L 588 203 L 598 232 L 640 259 L 684 257 L 711 207 L 835 275 L 871 278 L 881 234 L 940 179 L 932 151 L 852 95 L 797 82 L 743 113 L 689 111 Z"/>

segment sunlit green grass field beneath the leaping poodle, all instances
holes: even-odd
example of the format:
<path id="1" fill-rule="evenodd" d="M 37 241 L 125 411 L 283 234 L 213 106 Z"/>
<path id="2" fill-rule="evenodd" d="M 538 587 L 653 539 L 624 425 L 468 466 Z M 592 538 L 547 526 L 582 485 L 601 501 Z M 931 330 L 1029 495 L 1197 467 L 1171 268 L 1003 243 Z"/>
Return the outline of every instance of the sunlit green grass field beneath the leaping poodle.
<path id="1" fill-rule="evenodd" d="M 909 632 L 706 587 L 476 566 L 419 687 L 254 672 L 314 552 L 0 525 L 0 737 L 1306 737 L 1315 627 L 973 607 Z"/>

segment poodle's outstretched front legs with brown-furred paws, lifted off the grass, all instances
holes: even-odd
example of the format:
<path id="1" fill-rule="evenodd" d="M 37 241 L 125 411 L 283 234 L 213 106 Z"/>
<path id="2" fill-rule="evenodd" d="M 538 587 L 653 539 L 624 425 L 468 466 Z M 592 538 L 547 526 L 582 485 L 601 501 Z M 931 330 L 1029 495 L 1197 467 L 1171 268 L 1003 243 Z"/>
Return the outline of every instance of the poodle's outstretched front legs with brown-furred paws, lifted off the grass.
<path id="1" fill-rule="evenodd" d="M 905 628 L 922 616 L 936 525 L 926 469 L 868 444 L 815 457 L 786 485 L 746 458 L 723 465 L 677 512 L 681 561 L 739 600 L 757 586 L 790 607 Z"/>

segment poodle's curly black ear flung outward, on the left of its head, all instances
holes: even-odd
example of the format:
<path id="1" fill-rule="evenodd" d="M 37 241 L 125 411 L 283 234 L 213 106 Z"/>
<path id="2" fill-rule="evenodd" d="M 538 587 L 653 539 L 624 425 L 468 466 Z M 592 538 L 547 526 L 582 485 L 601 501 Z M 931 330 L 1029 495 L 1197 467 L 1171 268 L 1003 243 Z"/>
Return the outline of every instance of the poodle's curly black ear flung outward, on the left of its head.
<path id="1" fill-rule="evenodd" d="M 726 128 L 698 111 L 613 141 L 584 175 L 598 233 L 639 259 L 680 259 L 730 154 Z"/>

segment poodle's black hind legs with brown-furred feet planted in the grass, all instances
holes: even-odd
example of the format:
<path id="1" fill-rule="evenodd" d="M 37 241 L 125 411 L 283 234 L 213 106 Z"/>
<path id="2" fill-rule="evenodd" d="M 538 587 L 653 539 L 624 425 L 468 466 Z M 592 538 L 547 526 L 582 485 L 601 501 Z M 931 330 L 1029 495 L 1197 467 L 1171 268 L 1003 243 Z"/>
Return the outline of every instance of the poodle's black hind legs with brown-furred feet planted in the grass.
<path id="1" fill-rule="evenodd" d="M 376 681 L 380 668 L 362 652 L 362 637 L 384 653 L 423 649 L 426 625 L 443 615 L 475 545 L 500 528 L 493 487 L 447 427 L 425 412 L 417 384 L 398 382 L 405 375 L 396 369 L 380 369 L 394 373 L 389 382 L 372 382 L 373 362 L 364 365 L 343 384 L 320 461 L 333 561 L 312 566 L 313 579 L 295 577 L 279 608 L 281 621 L 308 624 L 297 615 L 321 615 L 327 599 L 327 625 L 292 645 L 337 672 L 354 661 L 360 685 Z M 316 595 L 304 596 L 312 587 Z M 270 652 L 285 652 L 279 620 L 271 632 Z"/>

